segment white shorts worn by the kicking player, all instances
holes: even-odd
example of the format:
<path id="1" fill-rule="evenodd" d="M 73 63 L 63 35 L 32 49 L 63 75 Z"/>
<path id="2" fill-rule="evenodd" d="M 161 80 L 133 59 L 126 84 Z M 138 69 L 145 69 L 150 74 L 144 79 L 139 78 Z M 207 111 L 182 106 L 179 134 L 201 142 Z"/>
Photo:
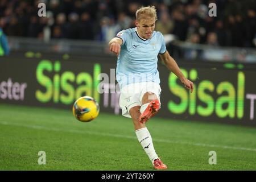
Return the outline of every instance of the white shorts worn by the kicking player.
<path id="1" fill-rule="evenodd" d="M 130 109 L 134 106 L 141 106 L 141 100 L 146 92 L 152 92 L 156 94 L 160 101 L 160 94 L 162 89 L 156 82 L 136 82 L 129 84 L 121 89 L 121 95 L 119 98 L 119 105 L 122 109 L 122 115 L 125 117 L 130 116 Z"/>

